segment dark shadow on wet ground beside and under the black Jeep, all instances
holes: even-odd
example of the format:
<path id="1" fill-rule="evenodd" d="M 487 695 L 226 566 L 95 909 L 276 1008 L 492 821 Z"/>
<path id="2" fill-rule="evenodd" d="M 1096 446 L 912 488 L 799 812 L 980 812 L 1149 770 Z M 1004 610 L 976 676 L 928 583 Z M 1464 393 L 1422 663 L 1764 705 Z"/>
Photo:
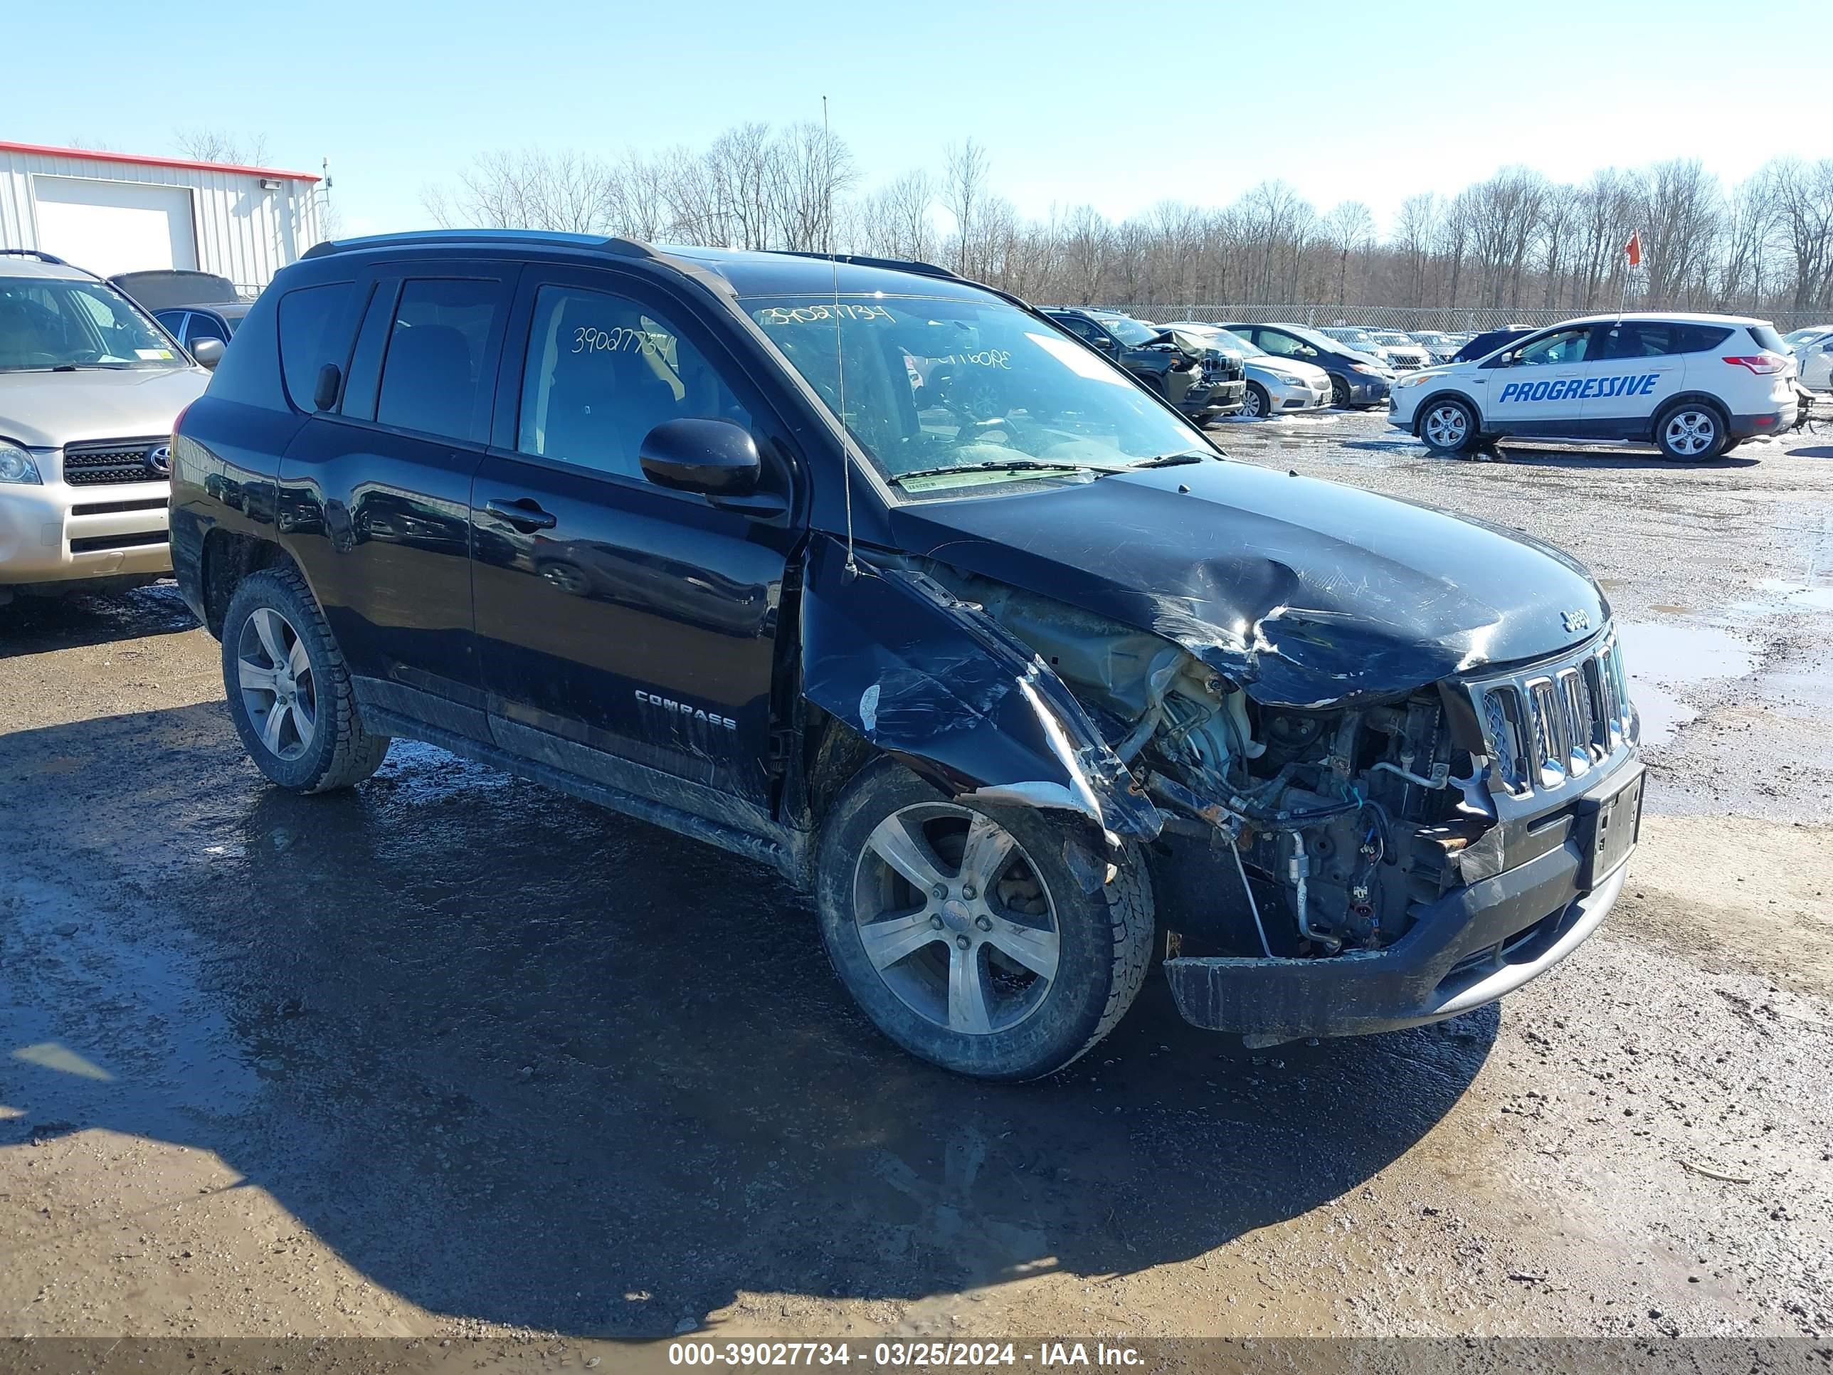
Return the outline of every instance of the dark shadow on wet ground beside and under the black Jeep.
<path id="1" fill-rule="evenodd" d="M 436 750 L 293 798 L 207 704 L 13 733 L 0 779 L 0 1150 L 214 1151 L 445 1314 L 647 1336 L 1184 1260 L 1378 1172 L 1496 1036 L 1248 1054 L 1155 977 L 1065 1074 L 975 1085 L 852 1012 L 766 871 Z"/>

